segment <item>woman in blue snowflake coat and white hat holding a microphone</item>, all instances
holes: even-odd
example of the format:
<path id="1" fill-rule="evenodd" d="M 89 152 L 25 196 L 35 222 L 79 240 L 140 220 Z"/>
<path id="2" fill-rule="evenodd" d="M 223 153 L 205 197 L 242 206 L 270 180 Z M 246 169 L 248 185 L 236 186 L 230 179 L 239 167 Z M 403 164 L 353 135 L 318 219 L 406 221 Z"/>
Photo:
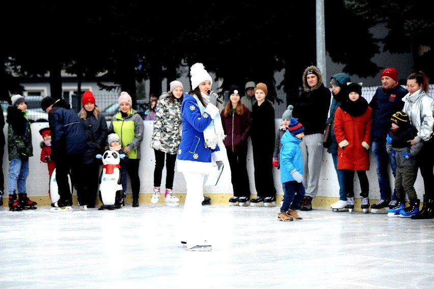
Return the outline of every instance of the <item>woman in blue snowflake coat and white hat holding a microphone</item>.
<path id="1" fill-rule="evenodd" d="M 185 197 L 181 246 L 187 250 L 209 251 L 211 245 L 202 236 L 203 181 L 216 162 L 223 165 L 218 141 L 225 134 L 219 108 L 215 106 L 218 95 L 211 91 L 212 78 L 202 63 L 191 68 L 194 90 L 184 95 L 181 104 L 182 139 L 178 149 L 178 171 L 184 175 L 187 186 Z"/>

